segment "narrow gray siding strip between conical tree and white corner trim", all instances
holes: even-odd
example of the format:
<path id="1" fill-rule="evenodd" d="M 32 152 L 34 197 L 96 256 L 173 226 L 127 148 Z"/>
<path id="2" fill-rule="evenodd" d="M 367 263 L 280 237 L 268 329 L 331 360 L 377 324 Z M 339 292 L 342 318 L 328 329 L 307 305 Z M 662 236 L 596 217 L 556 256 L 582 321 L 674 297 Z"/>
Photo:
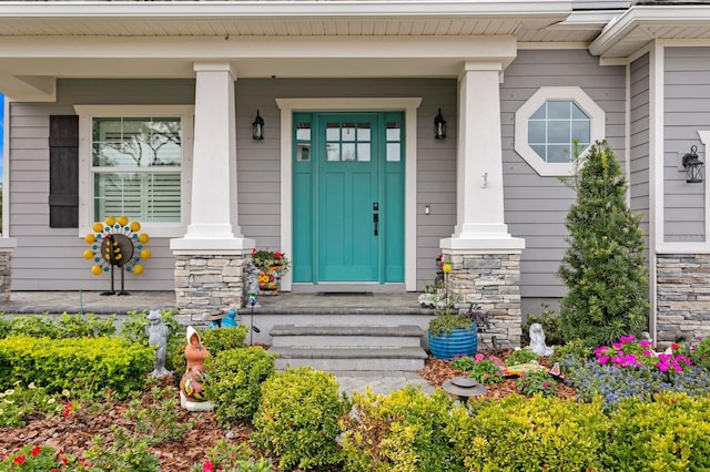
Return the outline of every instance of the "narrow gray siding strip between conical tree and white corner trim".
<path id="1" fill-rule="evenodd" d="M 649 54 L 633 61 L 630 90 L 630 176 L 631 211 L 641 215 L 643 242 L 649 247 Z"/>

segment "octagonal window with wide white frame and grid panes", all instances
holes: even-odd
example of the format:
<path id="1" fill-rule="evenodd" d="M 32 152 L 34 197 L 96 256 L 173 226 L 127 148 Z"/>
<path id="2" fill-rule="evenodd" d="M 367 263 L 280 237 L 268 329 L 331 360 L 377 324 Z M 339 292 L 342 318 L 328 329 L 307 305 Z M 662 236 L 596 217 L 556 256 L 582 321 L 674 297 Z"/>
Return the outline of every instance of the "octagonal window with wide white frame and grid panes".
<path id="1" fill-rule="evenodd" d="M 581 89 L 540 88 L 516 112 L 515 150 L 539 175 L 570 175 L 575 142 L 584 154 L 604 138 L 604 111 Z"/>

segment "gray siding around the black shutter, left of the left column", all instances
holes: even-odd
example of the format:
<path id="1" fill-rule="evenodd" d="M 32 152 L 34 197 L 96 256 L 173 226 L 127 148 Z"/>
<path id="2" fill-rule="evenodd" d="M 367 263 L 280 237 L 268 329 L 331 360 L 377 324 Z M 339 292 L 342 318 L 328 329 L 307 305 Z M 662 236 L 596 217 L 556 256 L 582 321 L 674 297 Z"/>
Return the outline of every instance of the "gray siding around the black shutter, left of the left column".
<path id="1" fill-rule="evenodd" d="M 49 227 L 49 116 L 74 114 L 73 104 L 192 104 L 194 82 L 60 80 L 57 103 L 11 103 L 9 236 L 13 290 L 108 290 L 110 276 L 91 274 L 89 248 L 77 228 Z M 150 232 L 149 232 L 150 234 Z M 125 275 L 125 289 L 174 289 L 169 238 L 151 238 L 152 258 L 141 276 Z M 121 287 L 120 271 L 115 288 Z M 146 307 L 150 308 L 150 307 Z"/>

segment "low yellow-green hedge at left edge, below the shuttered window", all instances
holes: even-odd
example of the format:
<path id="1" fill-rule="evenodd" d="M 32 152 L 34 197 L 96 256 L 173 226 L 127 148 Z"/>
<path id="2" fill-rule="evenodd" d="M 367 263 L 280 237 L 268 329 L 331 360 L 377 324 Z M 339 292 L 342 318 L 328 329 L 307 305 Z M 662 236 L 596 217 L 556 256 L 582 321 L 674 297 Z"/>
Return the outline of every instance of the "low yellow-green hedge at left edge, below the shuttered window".
<path id="1" fill-rule="evenodd" d="M 154 363 L 149 346 L 116 338 L 49 339 L 13 336 L 0 340 L 0 390 L 34 382 L 48 392 L 112 389 L 116 398 L 145 387 Z"/>

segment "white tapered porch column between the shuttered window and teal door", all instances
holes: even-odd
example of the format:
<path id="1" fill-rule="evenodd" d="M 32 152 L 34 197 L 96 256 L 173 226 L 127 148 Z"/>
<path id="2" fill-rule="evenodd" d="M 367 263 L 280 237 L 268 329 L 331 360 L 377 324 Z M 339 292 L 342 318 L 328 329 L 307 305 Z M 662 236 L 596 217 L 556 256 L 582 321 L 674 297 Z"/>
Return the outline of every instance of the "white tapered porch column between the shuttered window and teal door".
<path id="1" fill-rule="evenodd" d="M 195 63 L 192 207 L 187 233 L 171 240 L 181 249 L 251 249 L 242 237 L 236 202 L 234 81 L 229 63 Z"/>

